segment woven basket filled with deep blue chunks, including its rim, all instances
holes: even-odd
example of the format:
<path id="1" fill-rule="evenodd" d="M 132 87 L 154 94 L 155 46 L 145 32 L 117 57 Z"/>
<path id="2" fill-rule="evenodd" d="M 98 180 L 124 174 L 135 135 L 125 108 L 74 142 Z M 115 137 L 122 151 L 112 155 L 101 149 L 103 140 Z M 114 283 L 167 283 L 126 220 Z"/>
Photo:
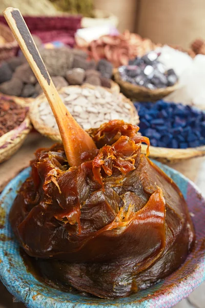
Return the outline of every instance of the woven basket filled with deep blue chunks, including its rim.
<path id="1" fill-rule="evenodd" d="M 175 163 L 205 155 L 205 112 L 163 100 L 134 105 L 140 132 L 150 139 L 150 157 Z M 146 149 L 142 144 L 142 152 Z"/>

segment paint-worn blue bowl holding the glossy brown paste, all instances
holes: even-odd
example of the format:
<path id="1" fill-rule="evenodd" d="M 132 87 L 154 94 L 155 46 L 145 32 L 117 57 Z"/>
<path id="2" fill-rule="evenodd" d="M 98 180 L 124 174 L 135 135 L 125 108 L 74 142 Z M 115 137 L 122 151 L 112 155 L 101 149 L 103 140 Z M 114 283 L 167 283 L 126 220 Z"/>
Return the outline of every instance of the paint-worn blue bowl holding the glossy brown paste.
<path id="1" fill-rule="evenodd" d="M 205 200 L 187 178 L 165 165 L 156 164 L 179 186 L 196 230 L 195 248 L 175 273 L 145 291 L 114 300 L 61 292 L 36 280 L 27 272 L 8 222 L 17 190 L 29 176 L 30 168 L 27 168 L 7 185 L 0 198 L 0 278 L 8 291 L 32 308 L 169 308 L 187 297 L 205 279 Z"/>

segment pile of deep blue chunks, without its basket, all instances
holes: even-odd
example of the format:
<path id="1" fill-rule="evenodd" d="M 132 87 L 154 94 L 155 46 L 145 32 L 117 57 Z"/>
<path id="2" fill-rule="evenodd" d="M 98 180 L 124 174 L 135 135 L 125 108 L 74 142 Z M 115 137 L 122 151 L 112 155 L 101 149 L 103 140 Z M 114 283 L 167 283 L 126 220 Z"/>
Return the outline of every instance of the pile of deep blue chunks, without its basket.
<path id="1" fill-rule="evenodd" d="M 134 103 L 140 132 L 153 146 L 188 148 L 205 145 L 205 113 L 182 104 L 163 100 Z"/>

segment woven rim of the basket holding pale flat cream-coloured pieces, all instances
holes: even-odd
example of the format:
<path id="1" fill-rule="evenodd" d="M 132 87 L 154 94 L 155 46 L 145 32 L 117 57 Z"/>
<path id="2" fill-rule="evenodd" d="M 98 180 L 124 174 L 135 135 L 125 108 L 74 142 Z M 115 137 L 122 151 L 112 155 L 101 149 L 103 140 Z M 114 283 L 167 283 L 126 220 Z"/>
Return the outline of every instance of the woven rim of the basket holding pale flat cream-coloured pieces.
<path id="1" fill-rule="evenodd" d="M 68 86 L 69 87 L 69 86 Z M 65 88 L 61 88 L 58 92 L 59 94 L 64 93 L 64 89 L 67 89 L 68 87 Z M 79 86 L 70 86 L 70 87 L 79 87 Z M 85 84 L 83 86 L 80 86 L 82 88 L 90 88 L 90 89 L 95 89 L 95 86 L 92 86 L 90 84 Z M 112 92 L 111 89 L 107 89 L 108 91 Z M 122 95 L 121 93 L 119 93 L 119 95 Z M 124 101 L 128 104 L 131 104 L 132 109 L 131 109 L 131 114 L 130 114 L 130 123 L 132 124 L 138 124 L 139 123 L 139 117 L 138 117 L 138 113 L 136 111 L 136 108 L 134 107 L 134 105 L 130 102 L 129 99 L 127 99 L 126 97 L 124 97 L 124 95 L 122 95 L 124 98 Z M 42 102 L 44 102 L 46 100 L 44 93 L 40 94 L 31 104 L 30 106 L 30 119 L 31 122 L 34 126 L 34 128 L 39 131 L 41 134 L 43 134 L 46 137 L 49 137 L 52 140 L 55 141 L 61 141 L 61 137 L 60 137 L 60 133 L 58 130 L 56 130 L 55 128 L 49 127 L 47 125 L 45 125 L 44 121 L 42 121 L 40 119 L 39 116 L 39 105 L 42 104 Z"/>

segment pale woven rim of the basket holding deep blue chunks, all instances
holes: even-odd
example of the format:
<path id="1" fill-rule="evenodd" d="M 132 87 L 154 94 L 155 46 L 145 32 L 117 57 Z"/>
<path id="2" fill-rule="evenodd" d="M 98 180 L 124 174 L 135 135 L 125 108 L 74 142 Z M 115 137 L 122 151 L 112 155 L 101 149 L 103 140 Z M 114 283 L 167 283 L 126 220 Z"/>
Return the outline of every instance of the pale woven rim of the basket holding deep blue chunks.
<path id="1" fill-rule="evenodd" d="M 146 154 L 147 145 L 141 145 L 142 153 Z M 173 149 L 150 146 L 150 157 L 163 163 L 176 163 L 184 159 L 200 157 L 205 155 L 205 145 L 187 148 L 187 149 Z"/>

